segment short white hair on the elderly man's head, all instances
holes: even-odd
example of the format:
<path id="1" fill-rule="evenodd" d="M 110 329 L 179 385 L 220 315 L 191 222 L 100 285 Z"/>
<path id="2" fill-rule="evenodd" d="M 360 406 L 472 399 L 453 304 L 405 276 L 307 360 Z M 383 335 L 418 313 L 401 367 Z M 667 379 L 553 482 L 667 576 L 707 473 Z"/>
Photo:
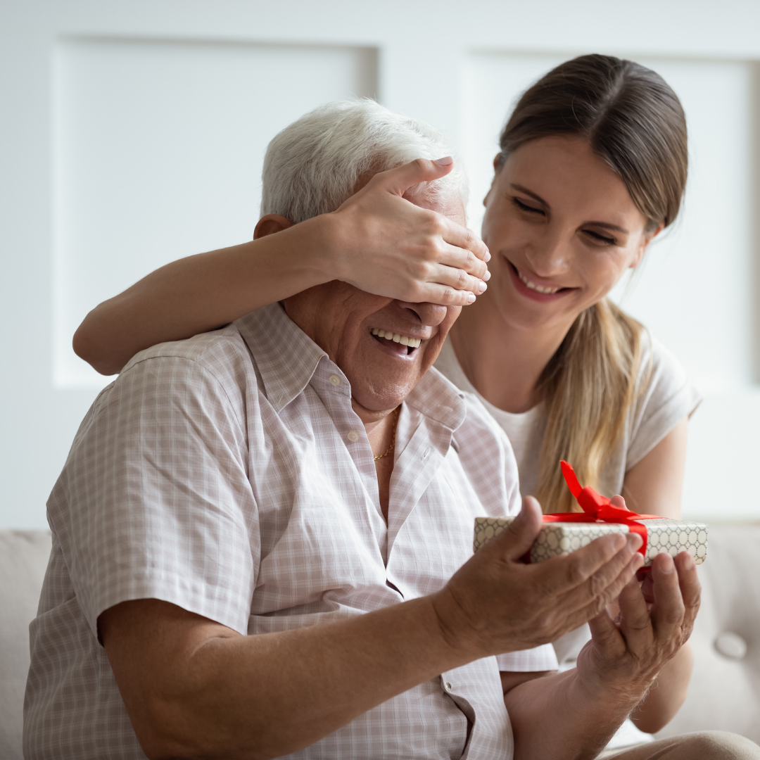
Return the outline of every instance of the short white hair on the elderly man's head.
<path id="1" fill-rule="evenodd" d="M 261 173 L 261 216 L 299 223 L 335 211 L 353 195 L 359 177 L 416 158 L 451 155 L 443 135 L 425 122 L 389 111 L 374 100 L 339 100 L 302 116 L 270 142 Z M 410 188 L 410 198 L 467 204 L 461 162 L 445 177 Z"/>

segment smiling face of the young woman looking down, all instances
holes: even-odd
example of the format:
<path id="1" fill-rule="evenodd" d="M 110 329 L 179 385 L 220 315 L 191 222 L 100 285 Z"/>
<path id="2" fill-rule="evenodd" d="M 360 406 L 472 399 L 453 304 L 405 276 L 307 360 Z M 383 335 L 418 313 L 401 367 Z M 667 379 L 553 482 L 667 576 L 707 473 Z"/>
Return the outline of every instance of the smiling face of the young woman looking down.
<path id="1" fill-rule="evenodd" d="M 489 298 L 516 328 L 568 330 L 635 267 L 654 232 L 622 180 L 581 138 L 530 141 L 483 204 Z"/>

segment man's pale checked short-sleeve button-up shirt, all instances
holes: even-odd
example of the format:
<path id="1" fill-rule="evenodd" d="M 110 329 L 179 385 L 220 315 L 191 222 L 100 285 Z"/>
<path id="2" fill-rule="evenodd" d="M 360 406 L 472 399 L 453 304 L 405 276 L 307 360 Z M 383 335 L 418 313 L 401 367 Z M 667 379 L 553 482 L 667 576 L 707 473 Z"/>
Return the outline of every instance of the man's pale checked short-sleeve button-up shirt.
<path id="1" fill-rule="evenodd" d="M 386 524 L 347 378 L 276 304 L 135 356 L 48 502 L 27 760 L 145 757 L 97 641 L 109 607 L 156 598 L 247 635 L 344 619 L 439 591 L 473 518 L 518 509 L 508 440 L 435 370 L 404 401 L 394 457 Z M 550 646 L 477 660 L 292 756 L 510 758 L 499 670 L 554 667 Z"/>

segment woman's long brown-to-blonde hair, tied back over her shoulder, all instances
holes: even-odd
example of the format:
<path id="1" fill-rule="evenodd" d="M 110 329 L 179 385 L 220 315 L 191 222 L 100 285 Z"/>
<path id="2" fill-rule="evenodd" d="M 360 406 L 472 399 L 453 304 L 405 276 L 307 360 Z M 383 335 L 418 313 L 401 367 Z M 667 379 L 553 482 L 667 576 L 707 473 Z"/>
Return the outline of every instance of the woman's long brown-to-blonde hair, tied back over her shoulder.
<path id="1" fill-rule="evenodd" d="M 502 131 L 497 172 L 513 150 L 551 135 L 589 141 L 625 183 L 649 231 L 676 219 L 688 171 L 686 118 L 659 74 L 609 55 L 583 55 L 549 71 L 524 93 Z M 578 315 L 544 368 L 537 391 L 548 420 L 536 493 L 544 511 L 577 508 L 561 459 L 581 483 L 597 486 L 638 393 L 641 331 L 603 299 Z"/>

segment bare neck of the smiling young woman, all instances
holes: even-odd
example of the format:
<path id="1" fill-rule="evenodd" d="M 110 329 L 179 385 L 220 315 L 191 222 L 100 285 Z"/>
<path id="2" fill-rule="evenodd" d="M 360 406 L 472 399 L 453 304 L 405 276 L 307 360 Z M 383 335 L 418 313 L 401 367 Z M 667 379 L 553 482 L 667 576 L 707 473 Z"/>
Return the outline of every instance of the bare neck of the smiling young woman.
<path id="1" fill-rule="evenodd" d="M 464 374 L 486 401 L 519 413 L 541 399 L 536 385 L 568 329 L 521 328 L 510 325 L 492 299 L 480 296 L 463 309 L 451 328 L 451 344 Z"/>

